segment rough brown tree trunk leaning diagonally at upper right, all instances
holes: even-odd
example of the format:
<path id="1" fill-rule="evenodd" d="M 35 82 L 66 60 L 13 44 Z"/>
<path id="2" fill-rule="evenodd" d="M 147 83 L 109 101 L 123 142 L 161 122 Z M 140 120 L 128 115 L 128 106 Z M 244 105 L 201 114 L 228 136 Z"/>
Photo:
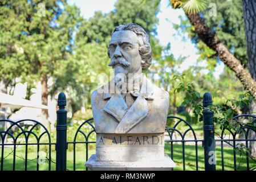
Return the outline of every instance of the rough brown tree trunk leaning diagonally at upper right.
<path id="1" fill-rule="evenodd" d="M 255 1 L 255 0 L 254 0 Z M 186 14 L 190 23 L 194 26 L 196 34 L 200 39 L 210 48 L 217 52 L 218 57 L 227 65 L 232 71 L 235 72 L 235 76 L 239 78 L 245 90 L 256 98 L 256 82 L 251 77 L 250 73 L 243 67 L 238 59 L 229 52 L 229 50 L 220 42 L 217 35 L 214 34 L 208 26 L 206 26 L 204 19 L 200 17 L 200 14 Z"/>

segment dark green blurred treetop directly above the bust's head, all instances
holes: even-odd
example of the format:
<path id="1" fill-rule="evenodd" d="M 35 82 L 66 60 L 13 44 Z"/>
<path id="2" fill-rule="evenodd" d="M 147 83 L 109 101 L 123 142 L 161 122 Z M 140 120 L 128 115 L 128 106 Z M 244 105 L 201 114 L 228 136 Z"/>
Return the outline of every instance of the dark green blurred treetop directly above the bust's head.
<path id="1" fill-rule="evenodd" d="M 110 42 L 111 32 L 120 24 L 136 23 L 149 33 L 156 34 L 156 15 L 159 7 L 155 6 L 155 0 L 141 1 L 119 0 L 115 4 L 115 10 L 107 14 L 96 11 L 95 15 L 88 20 L 83 27 L 83 35 L 87 42 Z"/>

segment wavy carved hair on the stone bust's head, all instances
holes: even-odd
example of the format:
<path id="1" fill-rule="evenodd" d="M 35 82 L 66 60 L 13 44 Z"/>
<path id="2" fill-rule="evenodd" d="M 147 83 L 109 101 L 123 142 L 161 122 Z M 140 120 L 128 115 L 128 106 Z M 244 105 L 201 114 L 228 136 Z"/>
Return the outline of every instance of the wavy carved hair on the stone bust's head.
<path id="1" fill-rule="evenodd" d="M 139 43 L 139 53 L 141 56 L 141 65 L 142 69 L 148 69 L 152 62 L 152 51 L 149 42 L 149 36 L 143 27 L 139 26 L 136 23 L 129 23 L 125 25 L 120 25 L 113 30 L 111 36 L 116 31 L 129 30 L 135 32 L 137 35 L 137 42 Z M 109 50 L 108 50 L 109 56 Z"/>

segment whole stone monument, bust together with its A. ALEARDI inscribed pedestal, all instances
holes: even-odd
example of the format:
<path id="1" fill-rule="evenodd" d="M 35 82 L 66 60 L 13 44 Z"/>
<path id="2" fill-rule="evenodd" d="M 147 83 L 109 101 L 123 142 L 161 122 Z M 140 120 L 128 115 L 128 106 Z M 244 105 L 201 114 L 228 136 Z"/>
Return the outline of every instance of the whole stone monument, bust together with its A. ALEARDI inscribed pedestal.
<path id="1" fill-rule="evenodd" d="M 114 78 L 92 93 L 96 155 L 91 169 L 170 169 L 164 155 L 169 93 L 142 73 L 152 61 L 149 36 L 135 23 L 112 32 L 108 56 Z"/>

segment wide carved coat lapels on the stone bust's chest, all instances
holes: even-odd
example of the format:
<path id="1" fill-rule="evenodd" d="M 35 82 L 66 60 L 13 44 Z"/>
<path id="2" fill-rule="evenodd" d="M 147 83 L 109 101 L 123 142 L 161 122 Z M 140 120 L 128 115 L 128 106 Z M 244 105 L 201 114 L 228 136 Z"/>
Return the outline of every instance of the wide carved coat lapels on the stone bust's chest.
<path id="1" fill-rule="evenodd" d="M 136 126 L 148 114 L 146 100 L 154 100 L 152 82 L 143 75 L 139 96 L 133 105 L 128 109 L 124 98 L 120 93 L 105 93 L 104 100 L 109 101 L 104 106 L 104 111 L 116 118 L 117 125 L 115 133 L 128 133 L 132 127 Z"/>

